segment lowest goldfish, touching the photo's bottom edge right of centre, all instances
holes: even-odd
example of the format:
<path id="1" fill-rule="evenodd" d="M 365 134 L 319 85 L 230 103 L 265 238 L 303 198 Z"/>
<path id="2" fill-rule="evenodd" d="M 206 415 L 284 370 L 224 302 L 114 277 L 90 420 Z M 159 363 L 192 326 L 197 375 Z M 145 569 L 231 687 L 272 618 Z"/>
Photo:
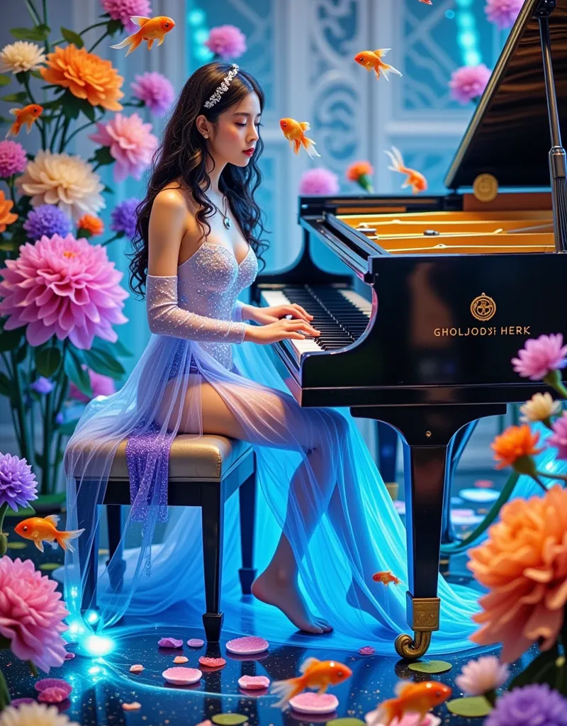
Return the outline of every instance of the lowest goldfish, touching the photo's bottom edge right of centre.
<path id="1" fill-rule="evenodd" d="M 397 698 L 389 698 L 366 714 L 367 726 L 390 726 L 393 719 L 401 722 L 408 713 L 420 714 L 418 723 L 421 723 L 433 706 L 446 701 L 452 693 L 448 685 L 438 681 L 403 681 L 396 685 L 395 691 Z"/>

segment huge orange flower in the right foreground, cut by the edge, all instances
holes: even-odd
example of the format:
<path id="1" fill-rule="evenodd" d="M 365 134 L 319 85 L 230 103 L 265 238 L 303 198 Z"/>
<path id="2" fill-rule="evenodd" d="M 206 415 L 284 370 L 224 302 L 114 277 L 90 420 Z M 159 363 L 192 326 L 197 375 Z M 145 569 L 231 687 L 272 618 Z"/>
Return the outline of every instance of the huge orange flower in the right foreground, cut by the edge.
<path id="1" fill-rule="evenodd" d="M 509 502 L 489 539 L 468 554 L 468 568 L 489 590 L 478 600 L 484 611 L 473 620 L 482 627 L 471 640 L 502 643 L 505 663 L 540 638 L 540 650 L 551 648 L 567 602 L 567 491 L 556 485 L 544 497 Z"/>

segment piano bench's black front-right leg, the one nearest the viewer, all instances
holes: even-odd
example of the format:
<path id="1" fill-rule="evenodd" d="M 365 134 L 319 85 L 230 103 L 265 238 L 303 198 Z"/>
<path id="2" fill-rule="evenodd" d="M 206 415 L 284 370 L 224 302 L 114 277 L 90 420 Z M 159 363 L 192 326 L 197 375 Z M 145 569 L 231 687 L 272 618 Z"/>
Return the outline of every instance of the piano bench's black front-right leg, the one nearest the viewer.
<path id="1" fill-rule="evenodd" d="M 207 611 L 203 615 L 203 625 L 207 640 L 211 643 L 219 643 L 224 619 L 223 613 L 220 612 L 224 502 L 221 487 L 218 484 L 203 485 L 201 519 L 203 522 L 203 566 L 207 607 Z"/>

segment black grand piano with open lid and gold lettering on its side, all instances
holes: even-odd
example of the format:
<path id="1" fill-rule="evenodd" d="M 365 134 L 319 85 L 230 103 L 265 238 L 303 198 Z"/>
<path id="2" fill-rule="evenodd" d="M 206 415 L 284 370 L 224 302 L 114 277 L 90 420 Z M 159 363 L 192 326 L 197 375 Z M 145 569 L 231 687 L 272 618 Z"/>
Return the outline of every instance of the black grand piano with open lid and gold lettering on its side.
<path id="1" fill-rule="evenodd" d="M 526 339 L 567 337 L 566 113 L 567 0 L 526 0 L 446 175 L 448 193 L 300 197 L 301 255 L 253 286 L 257 304 L 300 303 L 322 330 L 273 346 L 298 403 L 349 407 L 401 436 L 404 658 L 423 656 L 440 625 L 455 434 L 542 390 L 510 363 Z M 343 274 L 315 264 L 316 240 Z"/>

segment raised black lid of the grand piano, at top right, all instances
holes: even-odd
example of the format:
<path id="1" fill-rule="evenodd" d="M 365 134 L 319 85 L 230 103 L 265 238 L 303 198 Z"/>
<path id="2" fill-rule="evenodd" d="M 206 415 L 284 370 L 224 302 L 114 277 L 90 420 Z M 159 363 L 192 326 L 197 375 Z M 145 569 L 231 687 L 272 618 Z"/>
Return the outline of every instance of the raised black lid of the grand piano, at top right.
<path id="1" fill-rule="evenodd" d="M 551 185 L 542 44 L 534 17 L 540 1 L 523 4 L 445 177 L 449 189 L 472 187 L 478 174 L 492 174 L 499 187 Z M 550 15 L 550 38 L 559 119 L 567 134 L 567 0 L 557 0 Z"/>

